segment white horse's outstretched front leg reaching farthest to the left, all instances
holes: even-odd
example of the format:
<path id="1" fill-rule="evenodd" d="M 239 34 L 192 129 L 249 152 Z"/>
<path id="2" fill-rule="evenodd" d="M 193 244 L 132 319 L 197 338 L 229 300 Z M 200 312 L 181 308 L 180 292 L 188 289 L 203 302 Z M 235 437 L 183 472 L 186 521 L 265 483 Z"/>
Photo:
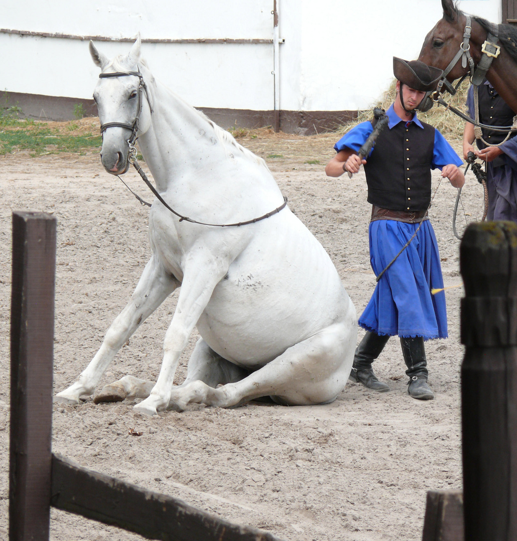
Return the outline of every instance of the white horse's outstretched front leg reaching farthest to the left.
<path id="1" fill-rule="evenodd" d="M 180 282 L 165 273 L 160 261 L 153 256 L 145 266 L 131 300 L 109 327 L 95 357 L 73 385 L 56 394 L 54 401 L 78 404 L 81 395 L 91 394 L 117 351 L 178 286 Z"/>

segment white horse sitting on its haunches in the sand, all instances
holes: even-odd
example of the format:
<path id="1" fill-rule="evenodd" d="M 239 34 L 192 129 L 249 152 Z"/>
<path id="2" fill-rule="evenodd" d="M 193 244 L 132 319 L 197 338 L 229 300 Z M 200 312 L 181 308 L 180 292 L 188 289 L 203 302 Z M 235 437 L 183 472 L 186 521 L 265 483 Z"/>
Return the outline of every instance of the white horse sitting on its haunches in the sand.
<path id="1" fill-rule="evenodd" d="M 157 192 L 178 213 L 223 225 L 279 208 L 282 194 L 266 163 L 156 82 L 140 45 L 139 36 L 128 56 L 110 61 L 90 42 L 101 68 L 94 98 L 104 168 L 125 173 L 128 139 L 137 136 Z M 57 401 L 78 404 L 92 394 L 118 349 L 180 286 L 156 384 L 125 376 L 96 402 L 143 398 L 135 410 L 153 415 L 189 403 L 230 407 L 268 396 L 287 405 L 335 400 L 352 367 L 356 312 L 328 254 L 288 207 L 249 225 L 215 227 L 180 221 L 155 199 L 149 239 L 153 255 L 131 300 Z M 194 326 L 202 338 L 187 378 L 175 386 Z"/>

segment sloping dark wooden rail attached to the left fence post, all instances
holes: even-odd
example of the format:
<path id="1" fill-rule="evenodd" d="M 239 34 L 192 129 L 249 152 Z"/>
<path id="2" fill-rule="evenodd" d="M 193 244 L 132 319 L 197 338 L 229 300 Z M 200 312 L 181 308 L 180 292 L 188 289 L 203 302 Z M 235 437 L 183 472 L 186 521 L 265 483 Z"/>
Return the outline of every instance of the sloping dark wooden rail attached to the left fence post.
<path id="1" fill-rule="evenodd" d="M 52 454 L 51 505 L 147 539 L 281 541 L 269 532 L 231 524 L 181 499 L 87 470 L 58 454 Z"/>

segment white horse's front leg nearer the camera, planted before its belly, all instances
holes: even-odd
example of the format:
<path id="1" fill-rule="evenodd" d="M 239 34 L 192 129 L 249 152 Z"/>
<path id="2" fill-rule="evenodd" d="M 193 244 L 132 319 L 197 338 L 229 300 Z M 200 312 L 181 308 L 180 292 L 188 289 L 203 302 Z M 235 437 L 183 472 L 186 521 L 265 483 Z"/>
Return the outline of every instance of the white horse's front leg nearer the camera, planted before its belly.
<path id="1" fill-rule="evenodd" d="M 156 385 L 148 398 L 134 406 L 135 411 L 154 415 L 169 405 L 174 374 L 190 334 L 207 306 L 217 283 L 228 269 L 220 258 L 200 250 L 183 268 L 183 281 L 173 320 L 163 342 L 163 361 Z"/>

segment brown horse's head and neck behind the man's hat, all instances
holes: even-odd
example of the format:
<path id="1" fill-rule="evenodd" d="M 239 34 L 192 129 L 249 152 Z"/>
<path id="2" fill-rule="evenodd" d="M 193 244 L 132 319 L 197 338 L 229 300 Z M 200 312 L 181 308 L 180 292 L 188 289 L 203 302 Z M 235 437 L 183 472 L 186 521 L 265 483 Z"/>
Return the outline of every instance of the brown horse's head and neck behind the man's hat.
<path id="1" fill-rule="evenodd" d="M 427 65 L 446 70 L 461 47 L 468 50 L 474 68 L 483 55 L 482 47 L 490 33 L 498 35 L 500 52 L 492 58 L 486 78 L 500 96 L 517 113 L 517 28 L 509 24 L 493 24 L 480 17 L 472 16 L 470 38 L 465 39 L 467 15 L 454 5 L 452 0 L 442 0 L 443 18 L 427 34 L 420 51 L 419 60 Z M 468 43 L 468 47 L 464 43 Z M 449 82 L 468 74 L 468 54 L 458 58 L 446 75 Z M 442 88 L 443 90 L 443 88 Z"/>

